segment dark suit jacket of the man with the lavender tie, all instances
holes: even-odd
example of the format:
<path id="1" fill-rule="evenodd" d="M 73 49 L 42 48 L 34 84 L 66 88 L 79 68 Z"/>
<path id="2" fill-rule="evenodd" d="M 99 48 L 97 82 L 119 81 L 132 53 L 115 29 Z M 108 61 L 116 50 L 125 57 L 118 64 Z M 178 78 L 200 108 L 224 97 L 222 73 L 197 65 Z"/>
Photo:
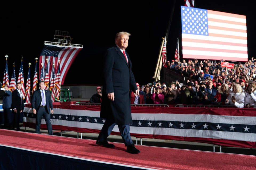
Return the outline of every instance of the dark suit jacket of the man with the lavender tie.
<path id="1" fill-rule="evenodd" d="M 42 95 L 41 95 L 41 90 L 36 90 L 34 91 L 34 94 L 31 99 L 31 108 L 32 110 L 35 109 L 37 112 L 40 108 L 42 101 Z M 51 113 L 50 108 L 53 110 L 53 102 L 51 101 L 51 94 L 49 91 L 45 90 L 45 103 L 46 103 L 46 108 L 48 113 Z"/>

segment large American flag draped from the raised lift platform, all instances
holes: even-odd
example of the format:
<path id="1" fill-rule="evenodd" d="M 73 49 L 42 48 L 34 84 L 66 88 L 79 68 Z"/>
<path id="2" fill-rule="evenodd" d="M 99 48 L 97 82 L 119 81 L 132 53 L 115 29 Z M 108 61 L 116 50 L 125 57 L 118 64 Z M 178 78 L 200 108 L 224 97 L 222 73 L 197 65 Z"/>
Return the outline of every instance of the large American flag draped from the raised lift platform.
<path id="1" fill-rule="evenodd" d="M 81 49 L 82 47 L 44 45 L 40 54 L 39 63 L 42 63 L 42 61 L 45 61 L 45 58 L 48 58 L 47 65 L 49 69 L 50 82 L 53 77 L 53 63 L 57 66 L 58 60 L 60 60 L 61 84 L 64 83 L 67 71 Z M 44 63 L 44 65 L 46 66 L 46 63 Z"/>

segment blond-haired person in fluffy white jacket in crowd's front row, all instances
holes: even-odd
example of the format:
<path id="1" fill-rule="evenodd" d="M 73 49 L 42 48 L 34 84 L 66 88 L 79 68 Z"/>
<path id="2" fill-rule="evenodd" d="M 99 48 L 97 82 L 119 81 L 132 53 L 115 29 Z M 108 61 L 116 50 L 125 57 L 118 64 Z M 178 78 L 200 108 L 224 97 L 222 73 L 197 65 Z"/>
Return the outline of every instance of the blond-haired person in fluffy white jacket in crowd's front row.
<path id="1" fill-rule="evenodd" d="M 225 104 L 234 105 L 237 108 L 243 108 L 245 102 L 245 93 L 240 84 L 234 84 L 233 90 L 230 91 L 229 96 L 227 97 Z"/>

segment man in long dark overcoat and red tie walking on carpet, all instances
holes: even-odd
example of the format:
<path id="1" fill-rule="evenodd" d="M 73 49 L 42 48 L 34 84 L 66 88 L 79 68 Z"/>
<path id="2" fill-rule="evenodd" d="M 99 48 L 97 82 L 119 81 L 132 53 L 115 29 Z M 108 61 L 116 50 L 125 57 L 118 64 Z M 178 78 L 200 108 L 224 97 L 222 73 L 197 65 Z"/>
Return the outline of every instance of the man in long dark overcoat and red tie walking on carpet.
<path id="1" fill-rule="evenodd" d="M 118 125 L 122 139 L 127 146 L 127 152 L 138 154 L 140 151 L 134 146 L 130 136 L 131 119 L 130 97 L 131 91 L 139 95 L 131 60 L 125 51 L 128 46 L 130 33 L 119 32 L 115 37 L 115 46 L 107 49 L 103 60 L 103 93 L 101 103 L 101 117 L 106 121 L 99 133 L 96 144 L 105 147 L 114 147 L 107 142 L 115 125 Z"/>

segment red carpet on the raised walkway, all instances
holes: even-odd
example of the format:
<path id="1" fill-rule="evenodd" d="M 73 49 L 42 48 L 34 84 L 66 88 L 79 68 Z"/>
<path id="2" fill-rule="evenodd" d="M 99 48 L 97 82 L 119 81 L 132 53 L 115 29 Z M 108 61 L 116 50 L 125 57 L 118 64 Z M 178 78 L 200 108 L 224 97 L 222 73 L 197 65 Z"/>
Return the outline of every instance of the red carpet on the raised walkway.
<path id="1" fill-rule="evenodd" d="M 95 140 L 4 129 L 0 129 L 0 144 L 144 169 L 256 169 L 256 156 L 140 145 L 136 147 L 141 153 L 132 155 L 122 143 L 105 148 Z"/>

